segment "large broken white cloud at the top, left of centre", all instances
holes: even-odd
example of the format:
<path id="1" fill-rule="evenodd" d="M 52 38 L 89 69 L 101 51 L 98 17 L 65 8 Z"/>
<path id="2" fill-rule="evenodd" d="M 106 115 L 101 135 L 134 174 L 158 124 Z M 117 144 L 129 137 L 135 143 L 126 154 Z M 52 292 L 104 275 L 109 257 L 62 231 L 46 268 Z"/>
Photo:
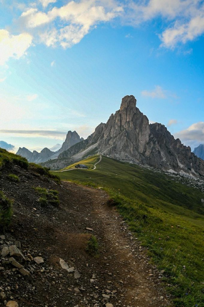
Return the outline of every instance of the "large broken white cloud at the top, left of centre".
<path id="1" fill-rule="evenodd" d="M 100 22 L 108 22 L 122 11 L 122 6 L 115 1 L 70 1 L 64 6 L 52 8 L 47 13 L 37 8 L 29 8 L 21 14 L 19 22 L 28 31 L 37 28 L 37 35 L 47 46 L 54 47 L 59 44 L 63 48 L 70 48 L 79 43 Z"/>

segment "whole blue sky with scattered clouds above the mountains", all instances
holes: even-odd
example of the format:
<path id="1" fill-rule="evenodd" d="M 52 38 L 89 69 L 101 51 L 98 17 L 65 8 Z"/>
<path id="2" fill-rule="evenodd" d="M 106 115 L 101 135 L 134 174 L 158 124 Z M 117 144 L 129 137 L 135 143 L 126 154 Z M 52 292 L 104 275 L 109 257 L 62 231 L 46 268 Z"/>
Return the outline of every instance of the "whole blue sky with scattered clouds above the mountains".
<path id="1" fill-rule="evenodd" d="M 0 0 L 0 141 L 86 138 L 134 95 L 193 149 L 204 143 L 204 3 Z"/>

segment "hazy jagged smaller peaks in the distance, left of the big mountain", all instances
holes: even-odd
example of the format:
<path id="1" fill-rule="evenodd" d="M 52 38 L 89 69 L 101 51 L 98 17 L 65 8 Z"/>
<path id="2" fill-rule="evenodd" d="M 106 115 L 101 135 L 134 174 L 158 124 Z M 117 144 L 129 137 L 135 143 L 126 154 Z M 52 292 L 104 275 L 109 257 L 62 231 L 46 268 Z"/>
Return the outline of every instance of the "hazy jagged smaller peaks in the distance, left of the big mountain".
<path id="1" fill-rule="evenodd" d="M 25 147 L 19 147 L 16 154 L 20 155 L 21 157 L 25 157 L 29 162 L 42 163 L 49 159 L 56 159 L 64 150 L 67 150 L 71 146 L 81 141 L 83 141 L 83 138 L 80 138 L 76 131 L 68 131 L 62 147 L 56 152 L 49 150 L 47 147 L 43 148 L 40 153 L 38 153 L 36 150 L 31 152 Z"/>

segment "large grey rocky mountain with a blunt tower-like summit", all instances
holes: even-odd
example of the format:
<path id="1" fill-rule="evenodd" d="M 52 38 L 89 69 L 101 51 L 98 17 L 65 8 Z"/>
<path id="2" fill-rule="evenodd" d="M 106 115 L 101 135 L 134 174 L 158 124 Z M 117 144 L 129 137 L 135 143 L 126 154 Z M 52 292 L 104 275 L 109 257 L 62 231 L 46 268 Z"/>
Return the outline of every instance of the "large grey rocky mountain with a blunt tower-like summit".
<path id="1" fill-rule="evenodd" d="M 43 165 L 60 169 L 94 153 L 170 172 L 204 176 L 204 161 L 175 139 L 164 125 L 149 124 L 132 95 L 125 96 L 120 110 L 111 114 L 106 124 L 98 125 L 86 140 Z"/>

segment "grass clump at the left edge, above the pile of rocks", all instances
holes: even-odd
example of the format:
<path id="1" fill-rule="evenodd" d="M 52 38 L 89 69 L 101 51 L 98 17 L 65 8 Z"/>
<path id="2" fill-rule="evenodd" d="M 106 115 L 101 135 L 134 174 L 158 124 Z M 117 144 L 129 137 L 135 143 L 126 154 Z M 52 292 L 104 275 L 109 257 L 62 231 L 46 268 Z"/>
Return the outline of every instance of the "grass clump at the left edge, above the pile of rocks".
<path id="1" fill-rule="evenodd" d="M 13 200 L 7 198 L 2 191 L 0 191 L 0 227 L 5 229 L 11 223 L 13 214 Z"/>

